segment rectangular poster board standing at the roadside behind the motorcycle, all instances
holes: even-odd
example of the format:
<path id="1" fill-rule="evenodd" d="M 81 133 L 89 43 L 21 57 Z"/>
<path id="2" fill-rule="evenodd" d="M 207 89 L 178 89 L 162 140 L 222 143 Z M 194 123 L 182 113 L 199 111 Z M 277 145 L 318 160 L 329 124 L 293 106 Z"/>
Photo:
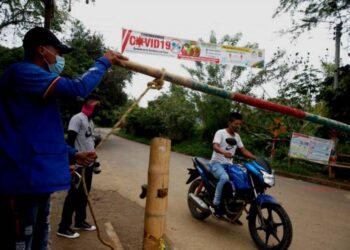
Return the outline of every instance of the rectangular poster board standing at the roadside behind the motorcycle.
<path id="1" fill-rule="evenodd" d="M 332 140 L 293 133 L 289 157 L 327 165 L 332 148 Z"/>

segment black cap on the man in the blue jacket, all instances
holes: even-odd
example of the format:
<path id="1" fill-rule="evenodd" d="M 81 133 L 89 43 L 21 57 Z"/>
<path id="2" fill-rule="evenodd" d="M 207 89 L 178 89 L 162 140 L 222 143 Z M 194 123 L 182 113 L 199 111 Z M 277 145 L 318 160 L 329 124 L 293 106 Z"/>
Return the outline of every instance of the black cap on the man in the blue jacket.
<path id="1" fill-rule="evenodd" d="M 61 43 L 61 41 L 46 28 L 35 27 L 24 35 L 23 48 L 25 51 L 33 50 L 40 45 L 51 45 L 58 48 L 62 54 L 72 52 L 73 50 L 73 48 Z"/>

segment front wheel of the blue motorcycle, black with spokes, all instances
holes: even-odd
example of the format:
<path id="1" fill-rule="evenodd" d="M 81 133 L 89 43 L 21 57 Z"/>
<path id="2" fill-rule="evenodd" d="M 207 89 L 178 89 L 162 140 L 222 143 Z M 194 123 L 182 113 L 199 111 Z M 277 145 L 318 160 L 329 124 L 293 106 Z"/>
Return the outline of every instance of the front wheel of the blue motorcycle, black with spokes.
<path id="1" fill-rule="evenodd" d="M 293 237 L 292 223 L 287 212 L 278 204 L 261 206 L 263 223 L 258 209 L 249 214 L 249 232 L 259 249 L 288 249 Z"/>

